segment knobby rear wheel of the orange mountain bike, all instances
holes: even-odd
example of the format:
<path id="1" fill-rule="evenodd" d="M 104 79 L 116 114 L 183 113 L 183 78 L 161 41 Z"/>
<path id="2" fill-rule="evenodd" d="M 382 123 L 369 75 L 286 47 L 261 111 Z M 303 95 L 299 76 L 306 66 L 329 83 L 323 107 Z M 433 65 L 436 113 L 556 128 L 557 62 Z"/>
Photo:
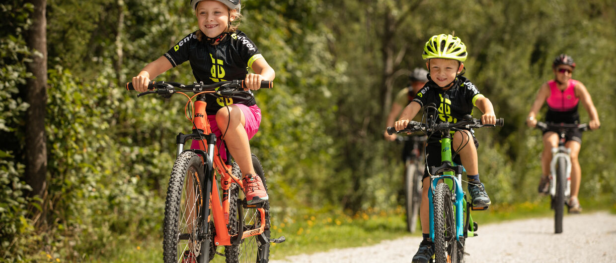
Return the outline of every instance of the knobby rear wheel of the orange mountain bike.
<path id="1" fill-rule="evenodd" d="M 267 183 L 265 181 L 265 175 L 261 162 L 252 154 L 253 167 L 257 175 L 261 178 L 265 191 L 267 191 Z M 240 167 L 237 163 L 233 162 L 232 168 L 233 175 L 238 178 L 242 178 Z M 229 234 L 241 235 L 238 222 L 242 222 L 243 229 L 254 229 L 254 226 L 261 226 L 261 214 L 255 208 L 242 208 L 242 214 L 238 215 L 238 200 L 243 198 L 244 193 L 240 191 L 240 187 L 237 184 L 232 183 L 229 193 Z M 270 211 L 269 201 L 263 203 L 263 210 L 265 211 L 265 230 L 264 235 L 267 240 L 270 238 Z M 225 257 L 227 263 L 236 262 L 259 262 L 265 263 L 269 261 L 269 247 L 270 244 L 265 242 L 261 243 L 256 235 L 244 238 L 237 245 L 225 246 Z"/>

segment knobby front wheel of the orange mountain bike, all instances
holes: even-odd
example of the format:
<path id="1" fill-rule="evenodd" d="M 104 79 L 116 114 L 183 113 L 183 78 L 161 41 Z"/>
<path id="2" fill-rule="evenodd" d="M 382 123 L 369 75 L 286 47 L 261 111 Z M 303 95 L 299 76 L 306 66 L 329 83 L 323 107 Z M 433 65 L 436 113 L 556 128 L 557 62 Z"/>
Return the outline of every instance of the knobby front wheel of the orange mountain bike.
<path id="1" fill-rule="evenodd" d="M 201 254 L 213 256 L 208 251 L 211 231 L 204 237 L 203 162 L 194 152 L 182 152 L 176 159 L 169 178 L 164 205 L 163 261 L 179 262 L 184 251 L 190 251 L 196 261 Z M 209 227 L 209 226 L 208 226 Z M 208 259 L 208 260 L 209 260 Z M 203 261 L 201 261 L 203 262 Z"/>

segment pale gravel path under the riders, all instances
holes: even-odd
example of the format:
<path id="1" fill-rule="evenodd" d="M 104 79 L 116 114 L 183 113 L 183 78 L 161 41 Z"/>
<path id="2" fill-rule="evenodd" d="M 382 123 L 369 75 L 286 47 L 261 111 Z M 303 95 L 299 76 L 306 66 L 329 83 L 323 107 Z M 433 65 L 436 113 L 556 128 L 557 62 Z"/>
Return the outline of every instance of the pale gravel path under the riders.
<path id="1" fill-rule="evenodd" d="M 554 234 L 553 218 L 479 225 L 477 234 L 466 240 L 467 263 L 616 262 L 616 215 L 607 212 L 565 215 L 562 234 Z M 420 241 L 406 237 L 271 262 L 410 262 Z"/>

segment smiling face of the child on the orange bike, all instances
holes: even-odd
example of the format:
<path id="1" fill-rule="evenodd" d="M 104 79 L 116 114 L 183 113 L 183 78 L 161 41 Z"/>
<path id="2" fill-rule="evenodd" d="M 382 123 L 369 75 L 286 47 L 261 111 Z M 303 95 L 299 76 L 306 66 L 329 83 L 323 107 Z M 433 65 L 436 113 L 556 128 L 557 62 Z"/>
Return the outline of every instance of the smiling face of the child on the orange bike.
<path id="1" fill-rule="evenodd" d="M 227 24 L 235 17 L 229 19 L 229 8 L 218 1 L 201 1 L 197 4 L 197 23 L 201 32 L 208 37 L 217 37 L 227 29 Z"/>

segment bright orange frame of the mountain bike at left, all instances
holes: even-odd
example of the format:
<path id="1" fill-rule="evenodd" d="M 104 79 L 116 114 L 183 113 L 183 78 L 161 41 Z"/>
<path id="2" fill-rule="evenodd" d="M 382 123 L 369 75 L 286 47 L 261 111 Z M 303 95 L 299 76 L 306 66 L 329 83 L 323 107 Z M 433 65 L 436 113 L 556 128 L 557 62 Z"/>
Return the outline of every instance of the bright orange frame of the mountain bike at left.
<path id="1" fill-rule="evenodd" d="M 214 158 L 218 156 L 219 149 L 216 146 L 216 135 L 212 133 L 209 121 L 207 119 L 205 110 L 207 104 L 205 99 L 199 96 L 203 93 L 211 92 L 201 92 L 195 95 L 197 96 L 197 100 L 195 101 L 195 112 L 193 114 L 193 133 L 190 135 L 179 133 L 179 135 L 177 135 L 177 154 L 179 155 L 184 151 L 195 151 L 198 154 L 201 154 L 201 158 L 205 164 L 204 167 L 206 176 L 206 178 L 201 181 L 201 185 L 206 192 L 211 192 L 211 195 L 205 195 L 205 200 L 203 201 L 204 203 L 209 203 L 212 210 L 211 216 L 213 216 L 214 228 L 216 229 L 216 236 L 214 237 L 213 242 L 214 245 L 217 246 L 229 246 L 232 245 L 232 243 L 239 242 L 243 238 L 262 234 L 265 230 L 265 211 L 263 208 L 257 208 L 257 205 L 250 206 L 251 208 L 257 208 L 257 211 L 259 211 L 259 214 L 261 215 L 261 226 L 257 229 L 251 229 L 248 231 L 244 231 L 242 229 L 241 235 L 229 235 L 227 225 L 229 224 L 230 186 L 231 183 L 237 183 L 241 190 L 244 189 L 244 186 L 241 178 L 237 178 L 237 176 L 232 174 L 231 165 L 222 162 L 222 158 Z M 203 138 L 203 141 L 199 143 L 199 149 L 184 150 L 185 141 L 188 139 L 201 140 L 201 138 Z M 207 145 L 207 150 L 205 149 L 205 145 Z M 206 157 L 205 159 L 204 156 Z M 219 192 L 216 173 L 214 170 L 221 175 L 222 198 Z M 238 209 L 241 209 L 241 205 L 238 205 Z M 203 209 L 203 218 L 207 219 L 209 222 L 211 218 L 208 213 L 209 209 Z M 238 213 L 240 213 L 240 211 L 238 211 Z M 205 229 L 203 229 L 204 234 L 207 234 L 209 231 L 207 226 L 208 224 L 205 224 Z"/>

